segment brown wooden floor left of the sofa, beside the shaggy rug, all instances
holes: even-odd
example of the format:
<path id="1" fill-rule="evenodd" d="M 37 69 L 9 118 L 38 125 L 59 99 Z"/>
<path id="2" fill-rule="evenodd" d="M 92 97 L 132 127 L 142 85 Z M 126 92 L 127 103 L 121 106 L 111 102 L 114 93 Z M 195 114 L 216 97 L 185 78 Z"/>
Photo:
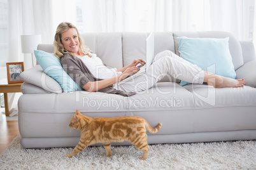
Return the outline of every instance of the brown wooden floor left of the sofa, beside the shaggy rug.
<path id="1" fill-rule="evenodd" d="M 18 134 L 18 121 L 0 121 L 0 154 Z"/>

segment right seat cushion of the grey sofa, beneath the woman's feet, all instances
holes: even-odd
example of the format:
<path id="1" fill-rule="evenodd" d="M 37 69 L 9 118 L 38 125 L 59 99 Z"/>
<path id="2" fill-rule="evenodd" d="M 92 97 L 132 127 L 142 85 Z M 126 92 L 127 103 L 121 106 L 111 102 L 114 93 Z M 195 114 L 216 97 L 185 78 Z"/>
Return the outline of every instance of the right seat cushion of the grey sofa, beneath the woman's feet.
<path id="1" fill-rule="evenodd" d="M 194 95 L 195 107 L 241 107 L 255 106 L 256 90 L 250 86 L 241 88 L 213 88 L 202 84 L 183 86 Z"/>

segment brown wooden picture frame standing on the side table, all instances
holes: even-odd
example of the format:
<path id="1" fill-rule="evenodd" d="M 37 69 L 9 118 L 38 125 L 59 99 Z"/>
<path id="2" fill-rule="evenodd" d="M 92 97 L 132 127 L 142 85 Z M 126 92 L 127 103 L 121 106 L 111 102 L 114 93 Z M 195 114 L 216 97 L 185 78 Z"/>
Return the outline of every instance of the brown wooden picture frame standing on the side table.
<path id="1" fill-rule="evenodd" d="M 8 84 L 24 82 L 20 80 L 20 74 L 24 72 L 24 62 L 6 63 Z"/>

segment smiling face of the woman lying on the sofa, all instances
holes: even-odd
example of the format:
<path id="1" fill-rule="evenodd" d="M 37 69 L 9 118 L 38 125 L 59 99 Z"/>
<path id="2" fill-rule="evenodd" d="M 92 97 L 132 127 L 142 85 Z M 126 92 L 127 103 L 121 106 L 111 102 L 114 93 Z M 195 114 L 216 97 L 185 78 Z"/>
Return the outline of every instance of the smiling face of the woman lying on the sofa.
<path id="1" fill-rule="evenodd" d="M 78 55 L 79 51 L 79 39 L 76 29 L 68 29 L 66 32 L 61 34 L 61 41 L 66 50 Z"/>

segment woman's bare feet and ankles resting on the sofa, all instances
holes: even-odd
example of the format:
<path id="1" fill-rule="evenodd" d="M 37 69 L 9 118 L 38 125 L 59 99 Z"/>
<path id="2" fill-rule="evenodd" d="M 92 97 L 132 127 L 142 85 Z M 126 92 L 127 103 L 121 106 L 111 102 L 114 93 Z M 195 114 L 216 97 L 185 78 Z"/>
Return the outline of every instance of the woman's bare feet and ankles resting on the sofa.
<path id="1" fill-rule="evenodd" d="M 244 79 L 231 79 L 216 74 L 205 74 L 204 82 L 215 88 L 239 88 L 245 85 Z"/>

